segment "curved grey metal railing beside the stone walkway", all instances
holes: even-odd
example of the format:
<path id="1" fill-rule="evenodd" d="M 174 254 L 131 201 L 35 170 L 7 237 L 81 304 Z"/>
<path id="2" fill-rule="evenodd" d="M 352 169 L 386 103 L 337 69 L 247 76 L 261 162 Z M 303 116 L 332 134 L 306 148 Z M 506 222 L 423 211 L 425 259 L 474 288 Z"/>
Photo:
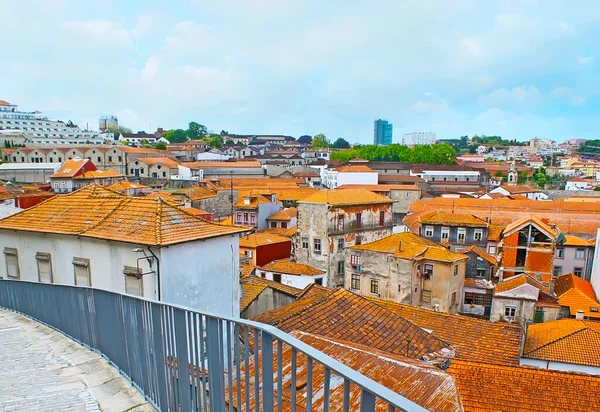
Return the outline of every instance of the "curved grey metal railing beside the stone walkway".
<path id="1" fill-rule="evenodd" d="M 99 289 L 10 280 L 0 280 L 0 307 L 100 352 L 161 411 L 426 411 L 257 322 Z"/>

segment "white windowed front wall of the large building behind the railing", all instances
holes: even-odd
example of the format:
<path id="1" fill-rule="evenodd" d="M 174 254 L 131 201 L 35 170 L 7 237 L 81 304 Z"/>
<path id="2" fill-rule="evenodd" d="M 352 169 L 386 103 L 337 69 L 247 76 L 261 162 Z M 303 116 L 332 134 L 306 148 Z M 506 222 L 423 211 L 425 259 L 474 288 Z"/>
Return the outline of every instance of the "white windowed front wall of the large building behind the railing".
<path id="1" fill-rule="evenodd" d="M 38 281 L 37 252 L 50 253 L 54 283 L 75 284 L 73 258 L 90 260 L 92 287 L 125 293 L 124 266 L 136 266 L 136 259 L 143 254 L 133 252 L 142 247 L 135 244 L 77 238 L 70 235 L 40 234 L 0 230 L 0 252 L 5 247 L 16 248 L 21 280 Z M 156 253 L 156 252 L 155 252 Z M 4 255 L 0 256 L 0 277 L 6 279 Z M 140 261 L 143 272 L 149 272 L 147 261 Z M 144 297 L 155 299 L 155 275 L 143 277 Z"/>

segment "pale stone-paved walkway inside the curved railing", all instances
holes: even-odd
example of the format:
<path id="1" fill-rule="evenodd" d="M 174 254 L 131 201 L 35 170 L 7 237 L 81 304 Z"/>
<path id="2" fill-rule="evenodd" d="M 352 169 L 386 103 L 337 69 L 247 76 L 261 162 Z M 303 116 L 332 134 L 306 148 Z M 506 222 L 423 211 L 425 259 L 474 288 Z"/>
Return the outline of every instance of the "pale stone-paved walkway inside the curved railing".
<path id="1" fill-rule="evenodd" d="M 155 411 L 99 354 L 0 309 L 0 411 Z"/>

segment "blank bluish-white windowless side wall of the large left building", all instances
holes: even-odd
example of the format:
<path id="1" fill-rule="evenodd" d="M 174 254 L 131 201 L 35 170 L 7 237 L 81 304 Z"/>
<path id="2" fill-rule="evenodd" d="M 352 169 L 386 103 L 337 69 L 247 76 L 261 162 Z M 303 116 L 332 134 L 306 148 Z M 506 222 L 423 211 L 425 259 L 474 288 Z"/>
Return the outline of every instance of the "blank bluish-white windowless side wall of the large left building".
<path id="1" fill-rule="evenodd" d="M 161 251 L 162 299 L 224 316 L 240 315 L 238 235 Z"/>

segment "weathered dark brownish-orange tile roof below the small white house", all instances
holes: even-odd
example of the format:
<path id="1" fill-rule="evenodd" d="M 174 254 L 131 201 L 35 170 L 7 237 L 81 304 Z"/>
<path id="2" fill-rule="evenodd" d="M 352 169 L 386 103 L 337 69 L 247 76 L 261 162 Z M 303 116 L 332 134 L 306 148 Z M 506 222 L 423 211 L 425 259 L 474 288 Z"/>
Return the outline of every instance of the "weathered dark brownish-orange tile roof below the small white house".
<path id="1" fill-rule="evenodd" d="M 301 330 L 421 359 L 450 345 L 384 307 L 345 289 L 312 294 L 253 320 L 291 332 Z"/>

